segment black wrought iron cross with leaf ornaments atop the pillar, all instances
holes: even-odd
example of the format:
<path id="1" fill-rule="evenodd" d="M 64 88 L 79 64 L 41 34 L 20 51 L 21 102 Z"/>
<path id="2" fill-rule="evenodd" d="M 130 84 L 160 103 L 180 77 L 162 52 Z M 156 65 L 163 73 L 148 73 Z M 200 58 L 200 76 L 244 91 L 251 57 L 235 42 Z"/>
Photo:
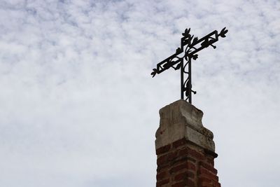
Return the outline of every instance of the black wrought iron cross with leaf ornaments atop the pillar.
<path id="1" fill-rule="evenodd" d="M 214 49 L 216 46 L 213 45 L 216 41 L 218 41 L 218 37 L 221 36 L 225 38 L 225 34 L 228 32 L 227 29 L 223 28 L 221 32 L 215 30 L 210 34 L 207 34 L 202 39 L 197 39 L 197 37 L 193 37 L 190 35 L 190 29 L 186 29 L 184 33 L 182 33 L 183 37 L 181 38 L 181 48 L 177 48 L 176 53 L 171 55 L 162 62 L 157 64 L 157 68 L 153 69 L 151 75 L 154 77 L 156 74 L 160 74 L 163 71 L 172 67 L 175 70 L 181 69 L 181 99 L 185 99 L 190 104 L 192 103 L 192 92 L 196 94 L 195 91 L 192 90 L 192 59 L 197 60 L 197 52 L 200 50 L 212 46 Z M 185 53 L 183 57 L 179 57 L 181 53 Z M 186 60 L 186 64 L 184 64 L 184 59 Z M 186 67 L 188 65 L 188 70 Z M 184 74 L 188 74 L 188 78 L 184 80 Z"/>

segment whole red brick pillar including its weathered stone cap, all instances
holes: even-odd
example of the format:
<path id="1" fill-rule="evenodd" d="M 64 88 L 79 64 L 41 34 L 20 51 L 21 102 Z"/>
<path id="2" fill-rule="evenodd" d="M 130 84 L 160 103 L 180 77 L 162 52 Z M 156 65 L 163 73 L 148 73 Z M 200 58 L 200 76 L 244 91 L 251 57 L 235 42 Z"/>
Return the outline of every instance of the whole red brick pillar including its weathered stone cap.
<path id="1" fill-rule="evenodd" d="M 213 133 L 202 125 L 203 113 L 179 100 L 160 109 L 155 134 L 157 187 L 221 187 L 214 168 Z"/>

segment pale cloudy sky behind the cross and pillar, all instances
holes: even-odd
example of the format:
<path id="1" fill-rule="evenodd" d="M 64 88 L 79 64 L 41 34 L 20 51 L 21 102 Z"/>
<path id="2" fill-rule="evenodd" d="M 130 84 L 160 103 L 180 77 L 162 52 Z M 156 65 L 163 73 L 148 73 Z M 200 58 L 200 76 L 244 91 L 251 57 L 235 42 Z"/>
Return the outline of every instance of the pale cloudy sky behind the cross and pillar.
<path id="1" fill-rule="evenodd" d="M 0 0 L 0 186 L 155 186 L 158 111 L 180 46 L 227 27 L 193 63 L 193 104 L 225 187 L 280 176 L 280 1 Z"/>

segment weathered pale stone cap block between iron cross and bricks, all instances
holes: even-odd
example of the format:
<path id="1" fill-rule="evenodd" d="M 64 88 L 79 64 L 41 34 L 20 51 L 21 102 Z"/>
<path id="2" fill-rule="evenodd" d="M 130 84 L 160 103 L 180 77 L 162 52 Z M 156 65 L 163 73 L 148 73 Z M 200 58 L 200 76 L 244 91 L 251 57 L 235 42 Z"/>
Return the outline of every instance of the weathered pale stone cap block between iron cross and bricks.
<path id="1" fill-rule="evenodd" d="M 215 152 L 213 133 L 202 125 L 203 112 L 180 99 L 160 109 L 160 127 L 155 133 L 155 148 L 186 138 Z"/>

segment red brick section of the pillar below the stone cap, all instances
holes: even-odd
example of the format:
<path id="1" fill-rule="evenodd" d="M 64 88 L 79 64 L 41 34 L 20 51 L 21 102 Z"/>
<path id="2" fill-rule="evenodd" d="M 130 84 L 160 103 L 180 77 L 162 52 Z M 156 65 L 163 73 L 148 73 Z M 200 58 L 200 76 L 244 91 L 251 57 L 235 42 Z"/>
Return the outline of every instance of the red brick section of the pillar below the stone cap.
<path id="1" fill-rule="evenodd" d="M 205 151 L 187 139 L 179 139 L 156 150 L 157 187 L 221 187 L 216 153 Z"/>

